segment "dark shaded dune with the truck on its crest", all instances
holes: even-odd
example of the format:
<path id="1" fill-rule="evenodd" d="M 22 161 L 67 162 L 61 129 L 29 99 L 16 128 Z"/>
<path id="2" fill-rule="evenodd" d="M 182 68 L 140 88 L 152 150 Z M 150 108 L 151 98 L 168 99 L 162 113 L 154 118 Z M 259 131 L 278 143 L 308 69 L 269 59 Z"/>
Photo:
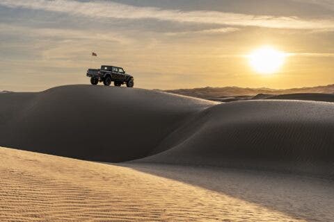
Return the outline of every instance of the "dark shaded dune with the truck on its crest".
<path id="1" fill-rule="evenodd" d="M 0 96 L 0 146 L 84 160 L 145 157 L 215 103 L 145 89 L 68 85 Z"/>

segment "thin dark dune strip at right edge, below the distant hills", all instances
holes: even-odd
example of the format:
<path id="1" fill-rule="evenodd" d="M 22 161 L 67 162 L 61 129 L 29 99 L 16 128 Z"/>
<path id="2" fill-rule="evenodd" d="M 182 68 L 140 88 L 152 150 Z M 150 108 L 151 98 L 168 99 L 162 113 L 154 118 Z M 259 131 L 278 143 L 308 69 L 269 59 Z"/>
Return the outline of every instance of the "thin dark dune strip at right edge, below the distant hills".
<path id="1" fill-rule="evenodd" d="M 304 100 L 304 101 L 334 102 L 334 94 L 321 94 L 321 93 L 283 94 L 277 96 L 267 96 L 262 99 L 291 99 L 291 100 L 294 99 L 294 100 Z"/>

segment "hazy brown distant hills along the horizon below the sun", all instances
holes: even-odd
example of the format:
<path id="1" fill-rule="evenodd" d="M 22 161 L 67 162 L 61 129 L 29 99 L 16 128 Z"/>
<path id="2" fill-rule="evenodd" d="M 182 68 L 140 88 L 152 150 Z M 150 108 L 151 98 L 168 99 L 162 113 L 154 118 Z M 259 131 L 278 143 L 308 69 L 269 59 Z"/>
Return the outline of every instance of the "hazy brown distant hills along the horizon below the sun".
<path id="1" fill-rule="evenodd" d="M 293 89 L 269 89 L 269 88 L 242 88 L 242 87 L 204 87 L 194 89 L 172 89 L 165 90 L 173 94 L 184 96 L 193 96 L 200 99 L 212 101 L 239 101 L 248 99 L 264 99 L 269 96 L 281 94 L 303 94 L 303 93 L 321 93 L 334 94 L 334 84 L 317 87 L 303 87 Z"/>

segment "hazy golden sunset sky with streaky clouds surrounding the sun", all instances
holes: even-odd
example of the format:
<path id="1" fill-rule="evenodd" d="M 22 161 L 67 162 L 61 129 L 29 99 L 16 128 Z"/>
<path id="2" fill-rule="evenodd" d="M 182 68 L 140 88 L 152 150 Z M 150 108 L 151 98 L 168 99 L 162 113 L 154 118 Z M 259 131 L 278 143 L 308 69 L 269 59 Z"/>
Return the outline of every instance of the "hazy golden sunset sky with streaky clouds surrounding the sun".
<path id="1" fill-rule="evenodd" d="M 263 75 L 248 55 L 268 45 L 289 56 Z M 334 1 L 0 0 L 0 52 L 0 90 L 17 92 L 89 84 L 101 65 L 146 89 L 329 85 Z"/>

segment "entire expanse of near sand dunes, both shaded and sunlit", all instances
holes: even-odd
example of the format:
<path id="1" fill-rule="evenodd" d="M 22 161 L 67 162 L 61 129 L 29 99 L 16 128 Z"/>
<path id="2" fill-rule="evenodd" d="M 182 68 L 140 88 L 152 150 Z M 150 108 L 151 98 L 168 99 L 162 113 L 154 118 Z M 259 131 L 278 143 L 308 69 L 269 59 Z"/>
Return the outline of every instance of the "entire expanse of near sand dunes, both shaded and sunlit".
<path id="1" fill-rule="evenodd" d="M 266 98 L 1 94 L 0 221 L 333 221 L 334 103 Z"/>

